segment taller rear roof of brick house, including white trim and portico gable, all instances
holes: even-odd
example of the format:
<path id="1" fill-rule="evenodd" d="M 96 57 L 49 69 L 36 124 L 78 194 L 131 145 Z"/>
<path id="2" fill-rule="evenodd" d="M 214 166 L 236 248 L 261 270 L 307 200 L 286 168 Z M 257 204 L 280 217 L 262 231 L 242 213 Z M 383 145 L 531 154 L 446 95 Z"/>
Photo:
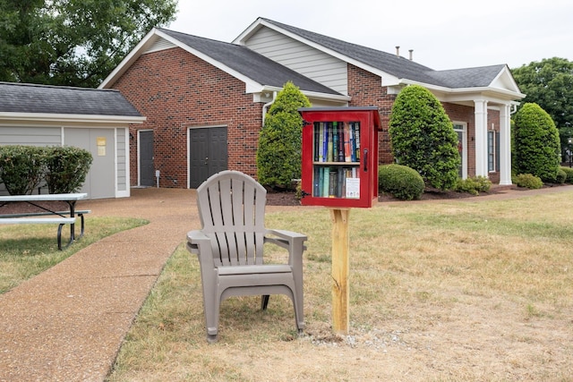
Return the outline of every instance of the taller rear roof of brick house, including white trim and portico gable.
<path id="1" fill-rule="evenodd" d="M 398 85 L 399 83 L 418 82 L 421 84 L 433 85 L 440 88 L 449 89 L 468 89 L 468 88 L 487 88 L 491 87 L 502 72 L 508 72 L 507 65 L 492 65 L 475 68 L 456 69 L 448 71 L 435 71 L 422 64 L 415 63 L 403 56 L 392 55 L 370 47 L 363 47 L 349 43 L 338 38 L 321 35 L 309 30 L 286 25 L 278 21 L 272 21 L 265 18 L 259 18 L 237 38 L 235 43 L 244 42 L 252 33 L 261 26 L 266 26 L 274 30 L 298 39 L 307 45 L 318 48 L 330 55 L 338 56 L 351 64 L 362 67 L 363 69 L 375 72 L 385 77 L 384 81 L 389 85 Z M 384 75 L 386 74 L 386 75 Z M 388 79 L 388 75 L 393 79 Z M 509 77 L 511 74 L 509 73 Z M 404 82 L 406 81 L 406 82 Z M 523 96 L 519 93 L 517 83 L 510 79 L 504 81 L 509 86 L 509 92 L 514 93 L 517 97 Z"/>

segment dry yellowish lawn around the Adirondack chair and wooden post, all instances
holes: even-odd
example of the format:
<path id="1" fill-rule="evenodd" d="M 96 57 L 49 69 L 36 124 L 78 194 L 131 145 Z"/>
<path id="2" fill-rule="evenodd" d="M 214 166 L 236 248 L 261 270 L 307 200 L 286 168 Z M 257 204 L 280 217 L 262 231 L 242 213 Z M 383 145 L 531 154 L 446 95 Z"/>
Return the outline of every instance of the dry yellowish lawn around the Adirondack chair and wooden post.
<path id="1" fill-rule="evenodd" d="M 207 344 L 198 262 L 182 245 L 108 380 L 573 380 L 572 192 L 353 209 L 344 336 L 330 330 L 329 211 L 288 208 L 267 225 L 309 236 L 303 336 L 285 296 L 265 312 L 232 298 Z"/>

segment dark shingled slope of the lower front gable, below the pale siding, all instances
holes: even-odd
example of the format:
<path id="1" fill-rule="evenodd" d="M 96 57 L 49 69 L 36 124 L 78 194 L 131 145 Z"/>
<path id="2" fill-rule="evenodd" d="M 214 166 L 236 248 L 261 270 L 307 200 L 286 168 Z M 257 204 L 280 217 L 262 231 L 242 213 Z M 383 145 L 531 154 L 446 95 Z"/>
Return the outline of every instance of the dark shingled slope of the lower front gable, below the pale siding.
<path id="1" fill-rule="evenodd" d="M 278 64 L 248 47 L 221 42 L 210 38 L 200 38 L 173 30 L 158 29 L 177 39 L 187 47 L 192 47 L 213 60 L 243 74 L 261 85 L 282 88 L 286 81 L 292 81 L 301 90 L 340 95 L 337 91 L 312 81 L 308 77 Z"/>

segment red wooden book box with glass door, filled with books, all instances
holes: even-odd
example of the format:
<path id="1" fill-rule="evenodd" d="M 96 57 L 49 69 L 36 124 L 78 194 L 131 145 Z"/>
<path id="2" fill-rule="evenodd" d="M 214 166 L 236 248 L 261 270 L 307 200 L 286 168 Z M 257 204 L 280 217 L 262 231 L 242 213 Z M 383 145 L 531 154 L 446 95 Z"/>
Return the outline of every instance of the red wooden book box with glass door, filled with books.
<path id="1" fill-rule="evenodd" d="M 304 107 L 304 206 L 370 208 L 378 199 L 378 107 Z"/>

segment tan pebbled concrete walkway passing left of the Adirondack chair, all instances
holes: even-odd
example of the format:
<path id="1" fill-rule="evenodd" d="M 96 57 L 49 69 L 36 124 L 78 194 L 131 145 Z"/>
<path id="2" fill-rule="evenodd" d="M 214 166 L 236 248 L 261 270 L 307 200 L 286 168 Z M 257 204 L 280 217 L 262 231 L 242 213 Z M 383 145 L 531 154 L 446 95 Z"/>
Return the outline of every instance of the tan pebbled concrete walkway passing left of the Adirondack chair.
<path id="1" fill-rule="evenodd" d="M 478 198 L 573 191 L 507 189 Z M 0 381 L 102 381 L 167 259 L 199 228 L 195 191 L 135 189 L 129 199 L 87 200 L 91 216 L 150 220 L 80 250 L 0 295 Z M 296 207 L 269 207 L 269 212 Z"/>

